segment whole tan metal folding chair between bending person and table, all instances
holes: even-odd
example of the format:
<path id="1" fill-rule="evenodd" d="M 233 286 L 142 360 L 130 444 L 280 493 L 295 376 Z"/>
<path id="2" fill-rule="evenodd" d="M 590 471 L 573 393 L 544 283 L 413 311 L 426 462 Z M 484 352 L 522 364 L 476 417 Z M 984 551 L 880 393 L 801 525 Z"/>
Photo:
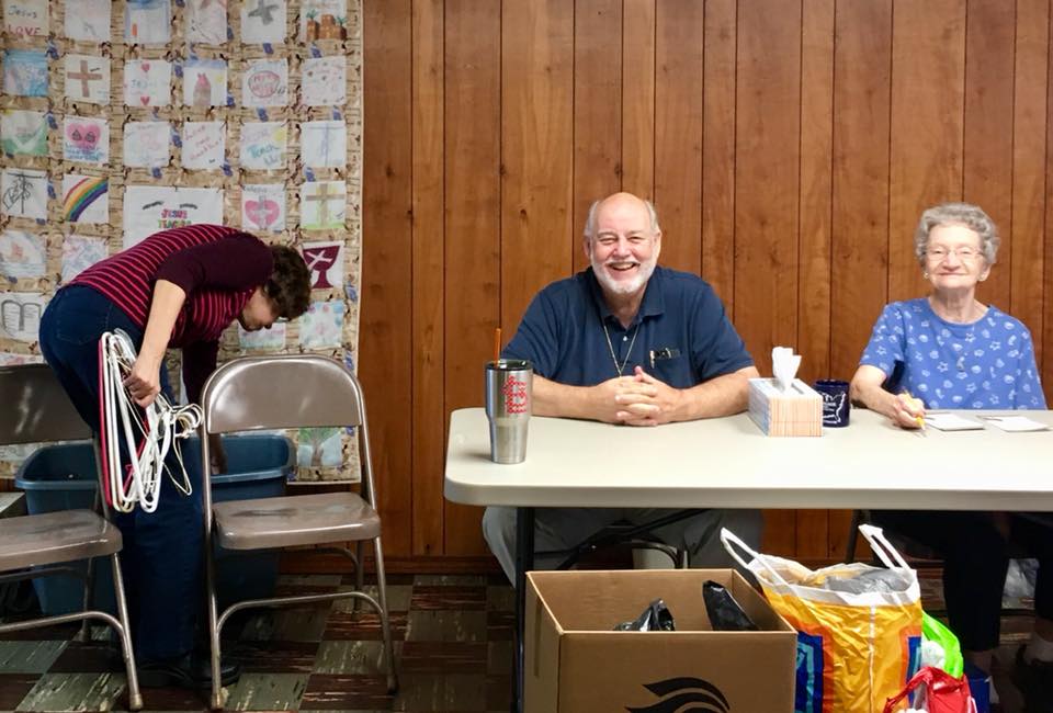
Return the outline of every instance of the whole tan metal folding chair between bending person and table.
<path id="1" fill-rule="evenodd" d="M 365 403 L 359 382 L 343 364 L 313 354 L 247 356 L 220 366 L 201 397 L 202 469 L 210 472 L 208 435 L 254 429 L 354 427 L 362 464 L 362 494 L 327 493 L 213 505 L 204 489 L 205 561 L 208 625 L 212 643 L 212 706 L 223 708 L 219 680 L 219 633 L 231 614 L 242 609 L 307 604 L 343 598 L 367 602 L 381 616 L 387 657 L 387 687 L 398 688 L 395 652 L 387 612 L 381 518 L 370 456 Z M 296 545 L 328 545 L 347 555 L 355 568 L 356 589 L 327 595 L 272 597 L 238 602 L 217 613 L 213 540 L 231 551 L 270 550 Z M 377 598 L 363 591 L 363 544 L 373 542 Z M 344 543 L 354 542 L 352 553 Z"/>

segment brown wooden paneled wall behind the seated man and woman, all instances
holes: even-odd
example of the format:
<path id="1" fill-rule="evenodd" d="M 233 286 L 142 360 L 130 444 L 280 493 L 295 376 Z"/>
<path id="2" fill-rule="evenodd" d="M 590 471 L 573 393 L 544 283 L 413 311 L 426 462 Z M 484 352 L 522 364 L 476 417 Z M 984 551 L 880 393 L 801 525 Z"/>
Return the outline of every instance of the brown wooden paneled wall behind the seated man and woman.
<path id="1" fill-rule="evenodd" d="M 1053 396 L 1050 0 L 364 4 L 361 375 L 392 555 L 486 552 L 442 497 L 449 412 L 616 190 L 655 201 L 663 262 L 716 287 L 762 372 L 788 344 L 808 380 L 850 377 L 881 307 L 925 293 L 920 211 L 978 203 L 1003 235 L 982 297 L 1031 328 Z M 769 514 L 769 548 L 840 552 L 845 513 Z"/>

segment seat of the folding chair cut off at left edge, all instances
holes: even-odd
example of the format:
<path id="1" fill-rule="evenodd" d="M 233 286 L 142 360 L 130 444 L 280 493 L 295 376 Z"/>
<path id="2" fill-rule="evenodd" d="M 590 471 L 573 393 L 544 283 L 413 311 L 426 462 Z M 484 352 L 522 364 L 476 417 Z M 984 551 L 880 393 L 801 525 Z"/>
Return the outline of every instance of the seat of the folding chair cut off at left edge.
<path id="1" fill-rule="evenodd" d="M 0 520 L 0 570 L 101 557 L 121 550 L 121 531 L 91 510 Z"/>

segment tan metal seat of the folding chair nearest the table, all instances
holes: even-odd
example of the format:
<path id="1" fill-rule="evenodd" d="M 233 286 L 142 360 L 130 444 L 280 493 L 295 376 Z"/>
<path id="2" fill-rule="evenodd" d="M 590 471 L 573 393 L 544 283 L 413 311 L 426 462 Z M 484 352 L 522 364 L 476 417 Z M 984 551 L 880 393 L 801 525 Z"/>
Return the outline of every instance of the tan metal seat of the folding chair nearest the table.
<path id="1" fill-rule="evenodd" d="M 371 540 L 381 518 L 354 493 L 230 500 L 212 506 L 219 546 L 265 550 L 292 545 Z"/>

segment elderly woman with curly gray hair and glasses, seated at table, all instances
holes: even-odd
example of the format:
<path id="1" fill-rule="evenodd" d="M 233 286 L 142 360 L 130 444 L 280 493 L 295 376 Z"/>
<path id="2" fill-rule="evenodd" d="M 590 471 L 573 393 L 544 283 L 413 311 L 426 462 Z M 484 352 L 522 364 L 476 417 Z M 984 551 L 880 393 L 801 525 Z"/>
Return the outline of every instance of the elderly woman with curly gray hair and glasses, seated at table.
<path id="1" fill-rule="evenodd" d="M 921 214 L 915 253 L 932 291 L 884 308 L 852 378 L 854 401 L 905 429 L 920 428 L 926 408 L 1045 408 L 1027 327 L 976 299 L 997 252 L 997 229 L 977 206 L 946 203 Z M 943 555 L 951 629 L 966 658 L 984 670 L 998 646 L 1010 545 L 1050 561 L 1040 569 L 1034 633 L 1018 653 L 1016 674 L 1028 711 L 1053 711 L 1053 531 L 1007 513 L 874 517 Z"/>

